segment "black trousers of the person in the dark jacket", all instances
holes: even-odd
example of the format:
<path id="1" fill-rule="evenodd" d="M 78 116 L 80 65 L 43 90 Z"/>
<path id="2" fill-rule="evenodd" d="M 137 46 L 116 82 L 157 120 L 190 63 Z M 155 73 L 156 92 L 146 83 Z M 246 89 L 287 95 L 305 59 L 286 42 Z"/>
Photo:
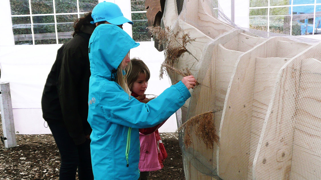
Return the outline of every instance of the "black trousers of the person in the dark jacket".
<path id="1" fill-rule="evenodd" d="M 63 123 L 54 121 L 47 123 L 60 153 L 59 180 L 75 180 L 77 168 L 79 180 L 93 180 L 90 140 L 75 145 Z"/>

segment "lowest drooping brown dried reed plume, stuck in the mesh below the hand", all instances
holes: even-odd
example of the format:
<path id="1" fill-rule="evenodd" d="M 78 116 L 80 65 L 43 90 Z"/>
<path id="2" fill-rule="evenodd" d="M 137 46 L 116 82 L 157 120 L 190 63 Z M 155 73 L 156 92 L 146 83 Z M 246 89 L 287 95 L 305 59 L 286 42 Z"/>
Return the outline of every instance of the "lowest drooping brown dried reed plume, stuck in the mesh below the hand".
<path id="1" fill-rule="evenodd" d="M 214 142 L 219 143 L 219 136 L 216 134 L 213 122 L 214 112 L 206 112 L 190 118 L 178 131 L 184 129 L 184 143 L 188 148 L 192 144 L 191 131 L 195 127 L 195 135 L 199 140 L 203 140 L 207 149 L 213 149 Z"/>

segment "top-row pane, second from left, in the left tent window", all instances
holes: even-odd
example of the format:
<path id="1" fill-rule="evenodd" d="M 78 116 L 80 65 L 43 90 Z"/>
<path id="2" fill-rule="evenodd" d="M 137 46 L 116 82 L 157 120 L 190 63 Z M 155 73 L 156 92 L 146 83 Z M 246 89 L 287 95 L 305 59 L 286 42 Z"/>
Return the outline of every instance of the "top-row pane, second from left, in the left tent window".
<path id="1" fill-rule="evenodd" d="M 31 0 L 32 14 L 51 14 L 54 13 L 52 0 Z"/>

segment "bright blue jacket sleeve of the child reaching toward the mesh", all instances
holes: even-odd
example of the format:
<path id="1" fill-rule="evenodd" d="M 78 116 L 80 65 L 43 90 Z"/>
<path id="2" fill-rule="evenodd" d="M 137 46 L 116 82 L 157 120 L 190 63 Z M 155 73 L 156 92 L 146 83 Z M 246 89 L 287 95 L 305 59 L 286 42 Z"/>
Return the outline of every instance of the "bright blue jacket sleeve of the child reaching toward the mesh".
<path id="1" fill-rule="evenodd" d="M 147 128 L 160 124 L 174 114 L 191 96 L 186 86 L 179 81 L 148 103 L 129 98 L 123 90 L 107 92 L 103 89 L 116 89 L 102 86 L 100 106 L 107 121 L 132 128 Z"/>

